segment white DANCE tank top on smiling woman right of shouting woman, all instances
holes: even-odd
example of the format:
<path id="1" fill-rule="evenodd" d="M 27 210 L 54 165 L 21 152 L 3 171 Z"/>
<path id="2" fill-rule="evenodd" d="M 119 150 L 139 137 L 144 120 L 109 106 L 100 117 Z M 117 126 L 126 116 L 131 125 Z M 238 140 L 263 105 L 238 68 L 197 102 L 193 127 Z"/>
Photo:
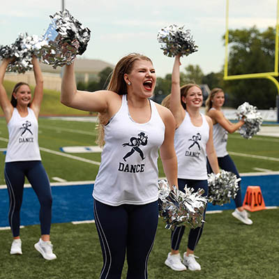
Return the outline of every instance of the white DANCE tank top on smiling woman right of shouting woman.
<path id="1" fill-rule="evenodd" d="M 194 126 L 188 112 L 174 134 L 174 149 L 178 162 L 179 179 L 207 179 L 206 143 L 209 123 L 202 115 L 202 126 Z"/>

